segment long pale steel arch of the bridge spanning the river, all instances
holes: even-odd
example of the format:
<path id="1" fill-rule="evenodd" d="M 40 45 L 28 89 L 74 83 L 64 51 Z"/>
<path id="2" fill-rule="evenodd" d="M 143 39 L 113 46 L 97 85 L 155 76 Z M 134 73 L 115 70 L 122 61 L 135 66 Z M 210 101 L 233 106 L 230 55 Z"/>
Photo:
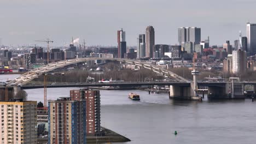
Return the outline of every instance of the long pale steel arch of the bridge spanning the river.
<path id="1" fill-rule="evenodd" d="M 119 62 L 125 62 L 130 64 L 138 65 L 139 67 L 143 67 L 149 70 L 154 71 L 155 73 L 165 75 L 169 77 L 170 79 L 173 79 L 177 82 L 187 82 L 190 83 L 190 81 L 184 79 L 183 77 L 173 73 L 170 70 L 158 67 L 153 64 L 149 64 L 146 62 L 141 62 L 133 59 L 125 59 L 125 58 L 75 58 L 75 59 L 68 59 L 65 61 L 59 61 L 54 63 L 49 63 L 47 65 L 43 65 L 42 67 L 33 69 L 31 71 L 28 71 L 25 74 L 20 75 L 18 78 L 11 80 L 7 83 L 7 86 L 24 86 L 27 82 L 30 82 L 31 80 L 39 77 L 40 75 L 43 75 L 45 73 L 48 73 L 49 71 L 55 70 L 57 68 L 65 67 L 67 65 L 80 63 L 80 62 L 86 62 L 86 61 L 92 61 L 92 60 L 110 60 L 110 61 L 119 61 Z"/>

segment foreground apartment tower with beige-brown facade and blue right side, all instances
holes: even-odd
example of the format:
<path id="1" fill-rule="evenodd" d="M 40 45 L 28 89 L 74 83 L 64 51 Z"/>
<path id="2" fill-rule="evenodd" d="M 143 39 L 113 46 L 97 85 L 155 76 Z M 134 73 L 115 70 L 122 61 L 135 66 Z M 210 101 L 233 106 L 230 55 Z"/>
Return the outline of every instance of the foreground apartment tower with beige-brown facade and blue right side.
<path id="1" fill-rule="evenodd" d="M 86 143 L 86 104 L 71 98 L 49 100 L 48 143 Z"/>

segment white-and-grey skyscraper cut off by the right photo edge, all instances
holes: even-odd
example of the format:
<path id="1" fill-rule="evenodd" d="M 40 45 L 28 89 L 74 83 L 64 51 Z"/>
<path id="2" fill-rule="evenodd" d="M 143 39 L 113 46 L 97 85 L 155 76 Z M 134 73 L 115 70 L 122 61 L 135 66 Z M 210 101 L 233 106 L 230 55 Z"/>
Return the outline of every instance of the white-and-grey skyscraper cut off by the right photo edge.
<path id="1" fill-rule="evenodd" d="M 247 33 L 247 47 L 250 55 L 256 54 L 256 24 L 247 23 L 246 25 Z"/>

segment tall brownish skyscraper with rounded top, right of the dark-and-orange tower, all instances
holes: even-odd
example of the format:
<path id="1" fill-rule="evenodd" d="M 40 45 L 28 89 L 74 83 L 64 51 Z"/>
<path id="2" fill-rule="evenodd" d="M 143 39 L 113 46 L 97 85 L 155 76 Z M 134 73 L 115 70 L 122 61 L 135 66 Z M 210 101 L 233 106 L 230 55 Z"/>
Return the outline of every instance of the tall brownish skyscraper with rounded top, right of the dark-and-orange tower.
<path id="1" fill-rule="evenodd" d="M 155 45 L 155 29 L 153 26 L 146 28 L 146 57 L 153 57 Z"/>

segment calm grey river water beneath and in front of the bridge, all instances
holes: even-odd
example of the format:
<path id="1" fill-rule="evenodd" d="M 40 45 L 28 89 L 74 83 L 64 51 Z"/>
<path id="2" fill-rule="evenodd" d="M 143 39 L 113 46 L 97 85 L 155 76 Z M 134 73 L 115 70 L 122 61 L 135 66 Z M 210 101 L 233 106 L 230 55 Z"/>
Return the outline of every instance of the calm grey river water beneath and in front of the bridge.
<path id="1" fill-rule="evenodd" d="M 48 100 L 68 97 L 71 89 L 78 88 L 48 88 Z M 26 92 L 29 100 L 43 102 L 42 88 Z M 141 101 L 130 100 L 130 92 L 139 94 Z M 249 144 L 256 141 L 256 102 L 177 101 L 168 99 L 168 94 L 139 90 L 101 91 L 101 125 L 129 138 L 127 144 Z"/>

